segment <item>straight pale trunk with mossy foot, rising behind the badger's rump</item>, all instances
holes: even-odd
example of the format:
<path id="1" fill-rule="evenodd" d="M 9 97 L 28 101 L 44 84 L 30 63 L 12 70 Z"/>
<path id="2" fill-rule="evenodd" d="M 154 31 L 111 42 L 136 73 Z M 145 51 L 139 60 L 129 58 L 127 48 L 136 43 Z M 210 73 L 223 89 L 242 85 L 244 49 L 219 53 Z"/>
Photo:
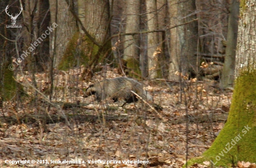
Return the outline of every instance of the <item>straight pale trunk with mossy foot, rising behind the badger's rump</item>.
<path id="1" fill-rule="evenodd" d="M 140 6 L 141 0 L 126 1 L 126 27 L 125 33 L 138 32 L 140 30 Z M 124 56 L 123 59 L 127 62 L 128 69 L 141 74 L 139 65 L 139 35 L 125 36 L 124 39 Z"/>

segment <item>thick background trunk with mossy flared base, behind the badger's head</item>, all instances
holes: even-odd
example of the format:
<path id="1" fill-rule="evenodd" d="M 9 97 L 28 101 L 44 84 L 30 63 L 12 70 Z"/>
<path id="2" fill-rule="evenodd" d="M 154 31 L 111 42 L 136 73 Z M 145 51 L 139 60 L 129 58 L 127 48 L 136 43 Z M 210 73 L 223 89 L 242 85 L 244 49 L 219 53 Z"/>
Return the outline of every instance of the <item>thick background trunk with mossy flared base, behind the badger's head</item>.
<path id="1" fill-rule="evenodd" d="M 68 0 L 66 2 L 70 4 Z M 78 14 L 70 7 L 69 10 L 78 22 L 81 34 L 76 32 L 69 40 L 59 67 L 65 69 L 85 64 L 87 68 L 83 76 L 91 76 L 98 70 L 95 66 L 99 62 L 108 62 L 111 57 L 111 42 L 106 41 L 110 37 L 109 0 L 78 0 L 75 7 Z"/>

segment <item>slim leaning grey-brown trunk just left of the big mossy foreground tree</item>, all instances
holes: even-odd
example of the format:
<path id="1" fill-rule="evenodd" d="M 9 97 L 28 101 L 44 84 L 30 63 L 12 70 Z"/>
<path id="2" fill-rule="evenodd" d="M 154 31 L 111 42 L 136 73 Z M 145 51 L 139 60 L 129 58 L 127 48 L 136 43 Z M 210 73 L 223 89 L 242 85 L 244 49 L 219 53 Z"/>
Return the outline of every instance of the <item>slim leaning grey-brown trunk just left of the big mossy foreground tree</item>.
<path id="1" fill-rule="evenodd" d="M 222 70 L 221 87 L 232 87 L 235 79 L 235 57 L 236 57 L 236 39 L 238 31 L 239 6 L 238 0 L 232 0 L 229 7 L 229 25 L 227 48 L 224 67 Z"/>

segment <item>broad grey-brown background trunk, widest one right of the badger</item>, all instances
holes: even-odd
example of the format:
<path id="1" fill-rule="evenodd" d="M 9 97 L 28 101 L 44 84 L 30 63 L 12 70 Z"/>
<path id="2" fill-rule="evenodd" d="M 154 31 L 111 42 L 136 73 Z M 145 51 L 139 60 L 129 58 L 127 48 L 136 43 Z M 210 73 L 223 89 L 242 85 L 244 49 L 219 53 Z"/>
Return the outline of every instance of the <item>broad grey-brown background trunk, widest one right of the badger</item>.
<path id="1" fill-rule="evenodd" d="M 195 0 L 168 0 L 170 27 L 196 19 L 196 15 L 192 14 L 195 10 Z M 189 71 L 196 69 L 196 57 L 193 53 L 197 47 L 197 22 L 171 29 L 170 33 L 169 80 L 178 81 L 176 71 L 187 75 Z"/>

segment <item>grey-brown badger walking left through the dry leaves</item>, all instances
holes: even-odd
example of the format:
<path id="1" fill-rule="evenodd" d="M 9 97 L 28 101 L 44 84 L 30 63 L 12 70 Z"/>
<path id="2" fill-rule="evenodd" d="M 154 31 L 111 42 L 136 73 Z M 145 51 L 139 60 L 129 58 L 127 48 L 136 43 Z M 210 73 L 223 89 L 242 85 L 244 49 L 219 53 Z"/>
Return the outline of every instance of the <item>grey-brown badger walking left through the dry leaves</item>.
<path id="1" fill-rule="evenodd" d="M 126 103 L 131 103 L 137 101 L 136 96 L 131 91 L 140 95 L 144 100 L 152 100 L 149 93 L 143 90 L 141 83 L 127 77 L 105 79 L 90 85 L 86 89 L 85 97 L 94 94 L 98 101 L 107 98 L 117 101 L 119 98 L 122 98 Z"/>

